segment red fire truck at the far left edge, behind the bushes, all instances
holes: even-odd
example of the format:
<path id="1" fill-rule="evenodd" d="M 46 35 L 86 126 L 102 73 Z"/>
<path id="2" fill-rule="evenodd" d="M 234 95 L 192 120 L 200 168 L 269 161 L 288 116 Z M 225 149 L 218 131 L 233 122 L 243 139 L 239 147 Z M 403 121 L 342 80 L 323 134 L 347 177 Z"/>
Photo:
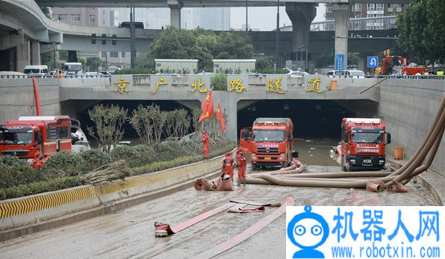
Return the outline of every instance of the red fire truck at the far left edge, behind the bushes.
<path id="1" fill-rule="evenodd" d="M 26 116 L 0 126 L 0 156 L 15 155 L 40 166 L 56 152 L 72 152 L 69 116 Z"/>

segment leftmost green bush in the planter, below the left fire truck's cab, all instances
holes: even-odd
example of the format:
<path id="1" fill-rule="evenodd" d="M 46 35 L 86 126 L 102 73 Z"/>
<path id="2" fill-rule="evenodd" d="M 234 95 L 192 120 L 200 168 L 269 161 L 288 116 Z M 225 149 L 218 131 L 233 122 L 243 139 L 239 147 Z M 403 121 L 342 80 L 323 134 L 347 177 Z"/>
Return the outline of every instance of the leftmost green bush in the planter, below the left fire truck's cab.
<path id="1" fill-rule="evenodd" d="M 19 157 L 0 157 L 0 188 L 43 180 L 42 174 Z"/>

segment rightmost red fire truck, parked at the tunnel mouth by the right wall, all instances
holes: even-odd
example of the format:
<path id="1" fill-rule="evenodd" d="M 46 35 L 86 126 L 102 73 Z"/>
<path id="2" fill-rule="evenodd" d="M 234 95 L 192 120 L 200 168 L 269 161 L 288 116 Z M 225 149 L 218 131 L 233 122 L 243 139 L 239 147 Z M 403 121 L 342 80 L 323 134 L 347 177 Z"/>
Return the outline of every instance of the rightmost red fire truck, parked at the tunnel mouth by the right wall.
<path id="1" fill-rule="evenodd" d="M 343 170 L 384 168 L 384 146 L 391 134 L 380 119 L 343 118 L 341 124 L 341 166 Z"/>

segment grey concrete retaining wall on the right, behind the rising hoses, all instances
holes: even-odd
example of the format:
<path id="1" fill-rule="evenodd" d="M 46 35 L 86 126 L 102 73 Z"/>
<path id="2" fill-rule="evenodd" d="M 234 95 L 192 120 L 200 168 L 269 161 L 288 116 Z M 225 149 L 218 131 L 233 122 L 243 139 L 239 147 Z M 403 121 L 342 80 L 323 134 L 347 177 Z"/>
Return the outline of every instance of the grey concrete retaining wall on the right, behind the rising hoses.
<path id="1" fill-rule="evenodd" d="M 426 83 L 427 82 L 427 83 Z M 420 146 L 437 113 L 445 92 L 445 80 L 389 79 L 380 85 L 378 114 L 383 116 L 392 142 L 387 153 L 394 155 L 394 146 L 405 148 L 411 157 Z M 431 168 L 445 176 L 445 137 Z"/>

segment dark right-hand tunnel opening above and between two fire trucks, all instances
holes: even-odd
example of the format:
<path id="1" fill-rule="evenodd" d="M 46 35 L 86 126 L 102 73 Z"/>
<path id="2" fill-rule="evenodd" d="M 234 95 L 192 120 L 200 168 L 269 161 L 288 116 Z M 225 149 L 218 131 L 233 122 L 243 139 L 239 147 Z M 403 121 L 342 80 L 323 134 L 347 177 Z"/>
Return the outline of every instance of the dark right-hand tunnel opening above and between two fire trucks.
<path id="1" fill-rule="evenodd" d="M 257 117 L 290 117 L 294 137 L 340 138 L 343 117 L 373 117 L 377 104 L 364 100 L 259 100 L 238 111 L 238 135 Z"/>

